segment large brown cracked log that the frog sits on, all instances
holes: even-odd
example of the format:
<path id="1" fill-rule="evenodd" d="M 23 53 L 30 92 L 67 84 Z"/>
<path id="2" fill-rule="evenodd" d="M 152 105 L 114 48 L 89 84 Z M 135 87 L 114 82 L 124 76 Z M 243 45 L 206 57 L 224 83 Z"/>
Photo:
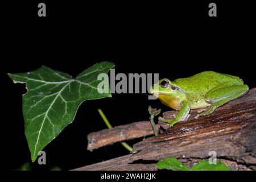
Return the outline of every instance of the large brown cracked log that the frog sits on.
<path id="1" fill-rule="evenodd" d="M 176 111 L 163 113 L 172 118 Z M 217 158 L 233 170 L 256 169 L 256 88 L 245 96 L 219 107 L 214 113 L 176 123 L 168 129 L 159 123 L 162 134 L 136 143 L 135 154 L 110 159 L 76 170 L 156 170 L 155 163 L 168 156 L 181 159 L 191 167 L 215 151 Z"/>

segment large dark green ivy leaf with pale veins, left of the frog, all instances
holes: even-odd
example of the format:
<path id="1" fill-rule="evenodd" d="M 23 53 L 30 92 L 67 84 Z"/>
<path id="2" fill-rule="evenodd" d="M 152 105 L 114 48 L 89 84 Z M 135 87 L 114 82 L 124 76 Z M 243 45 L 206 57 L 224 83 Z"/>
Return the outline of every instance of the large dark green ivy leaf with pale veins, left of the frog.
<path id="1" fill-rule="evenodd" d="M 113 67 L 110 62 L 94 64 L 76 78 L 44 66 L 32 72 L 8 74 L 14 83 L 27 85 L 22 109 L 32 162 L 39 151 L 73 122 L 83 101 L 112 97 L 109 88 L 108 93 L 98 92 L 101 80 L 97 77 Z"/>

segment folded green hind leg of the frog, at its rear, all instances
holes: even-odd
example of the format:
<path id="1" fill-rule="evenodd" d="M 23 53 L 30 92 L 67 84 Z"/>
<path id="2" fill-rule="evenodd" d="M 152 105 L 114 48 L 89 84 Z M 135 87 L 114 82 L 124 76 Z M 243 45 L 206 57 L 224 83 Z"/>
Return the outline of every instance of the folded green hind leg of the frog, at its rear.
<path id="1" fill-rule="evenodd" d="M 235 98 L 241 97 L 247 93 L 249 87 L 247 85 L 231 85 L 225 86 L 223 88 L 214 89 L 214 92 L 210 90 L 205 94 L 205 101 L 210 105 L 203 112 L 196 115 L 195 118 L 200 117 L 201 115 L 208 115 L 212 113 L 218 107 L 224 105 L 226 102 L 232 101 Z"/>

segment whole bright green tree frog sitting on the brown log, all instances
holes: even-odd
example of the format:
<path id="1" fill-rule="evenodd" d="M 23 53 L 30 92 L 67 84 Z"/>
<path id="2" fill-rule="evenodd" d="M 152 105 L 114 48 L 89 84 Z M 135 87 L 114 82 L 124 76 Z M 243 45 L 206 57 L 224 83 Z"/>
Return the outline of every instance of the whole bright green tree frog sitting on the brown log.
<path id="1" fill-rule="evenodd" d="M 249 87 L 237 76 L 213 71 L 205 71 L 188 78 L 170 81 L 167 78 L 152 85 L 150 93 L 163 104 L 179 110 L 174 119 L 162 119 L 172 127 L 176 122 L 185 121 L 191 109 L 200 109 L 201 115 L 211 114 L 217 107 L 224 105 L 247 93 Z"/>

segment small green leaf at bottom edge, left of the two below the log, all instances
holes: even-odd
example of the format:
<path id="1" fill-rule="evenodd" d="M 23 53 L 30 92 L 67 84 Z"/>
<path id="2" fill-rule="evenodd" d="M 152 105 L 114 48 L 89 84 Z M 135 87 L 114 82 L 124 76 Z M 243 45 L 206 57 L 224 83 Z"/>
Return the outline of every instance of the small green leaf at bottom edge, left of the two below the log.
<path id="1" fill-rule="evenodd" d="M 159 169 L 169 169 L 172 171 L 189 171 L 189 168 L 185 166 L 183 163 L 181 163 L 176 158 L 166 158 L 163 160 L 159 160 L 159 162 L 156 164 L 156 166 Z"/>

